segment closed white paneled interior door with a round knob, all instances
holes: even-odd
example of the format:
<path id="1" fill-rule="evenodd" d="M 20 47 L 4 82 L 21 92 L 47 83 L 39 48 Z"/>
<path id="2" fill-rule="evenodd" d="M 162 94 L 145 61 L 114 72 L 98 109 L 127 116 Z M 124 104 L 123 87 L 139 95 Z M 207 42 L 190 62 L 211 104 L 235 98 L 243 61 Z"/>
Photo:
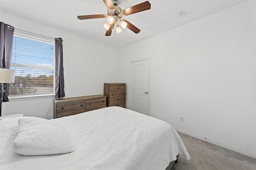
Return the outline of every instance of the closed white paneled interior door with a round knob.
<path id="1" fill-rule="evenodd" d="M 149 111 L 149 70 L 150 60 L 132 62 L 131 109 L 145 115 Z"/>

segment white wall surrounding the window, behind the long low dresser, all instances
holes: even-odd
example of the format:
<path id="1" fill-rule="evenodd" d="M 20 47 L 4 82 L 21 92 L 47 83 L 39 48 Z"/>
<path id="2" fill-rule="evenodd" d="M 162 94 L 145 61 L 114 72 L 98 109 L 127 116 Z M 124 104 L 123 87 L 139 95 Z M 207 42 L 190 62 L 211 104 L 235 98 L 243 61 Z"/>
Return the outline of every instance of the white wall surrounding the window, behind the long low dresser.
<path id="1" fill-rule="evenodd" d="M 48 37 L 61 37 L 65 97 L 103 94 L 104 82 L 118 82 L 119 58 L 109 55 L 113 47 L 1 11 L 1 21 L 18 29 Z M 101 50 L 98 50 L 101 49 Z M 109 52 L 108 52 L 109 51 Z M 111 52 L 110 52 L 111 51 Z M 53 118 L 53 99 L 3 102 L 2 115 L 23 113 L 24 116 Z"/>

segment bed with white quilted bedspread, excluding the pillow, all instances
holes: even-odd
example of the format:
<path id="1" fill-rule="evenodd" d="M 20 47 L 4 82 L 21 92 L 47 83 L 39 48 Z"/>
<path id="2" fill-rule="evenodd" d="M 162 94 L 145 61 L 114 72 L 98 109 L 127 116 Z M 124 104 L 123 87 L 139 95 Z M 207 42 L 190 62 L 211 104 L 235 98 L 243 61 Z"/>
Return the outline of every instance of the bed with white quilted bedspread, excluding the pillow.
<path id="1" fill-rule="evenodd" d="M 47 120 L 60 125 L 50 130 L 57 134 L 65 127 L 75 150 L 24 156 L 14 151 L 14 140 L 20 133 L 20 120 L 26 118 L 32 119 L 12 117 L 0 121 L 1 170 L 165 170 L 171 168 L 179 154 L 190 159 L 170 124 L 122 107 L 106 107 Z"/>

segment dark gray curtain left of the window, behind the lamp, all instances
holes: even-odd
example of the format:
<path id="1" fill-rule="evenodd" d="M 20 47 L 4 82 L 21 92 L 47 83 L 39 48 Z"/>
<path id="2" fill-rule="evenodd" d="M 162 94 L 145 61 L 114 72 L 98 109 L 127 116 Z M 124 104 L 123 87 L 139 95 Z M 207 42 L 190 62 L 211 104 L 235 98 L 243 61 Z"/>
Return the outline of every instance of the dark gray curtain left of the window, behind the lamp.
<path id="1" fill-rule="evenodd" d="M 0 68 L 10 68 L 12 58 L 12 40 L 14 29 L 11 25 L 0 22 Z M 3 102 L 8 102 L 8 86 L 4 84 Z"/>

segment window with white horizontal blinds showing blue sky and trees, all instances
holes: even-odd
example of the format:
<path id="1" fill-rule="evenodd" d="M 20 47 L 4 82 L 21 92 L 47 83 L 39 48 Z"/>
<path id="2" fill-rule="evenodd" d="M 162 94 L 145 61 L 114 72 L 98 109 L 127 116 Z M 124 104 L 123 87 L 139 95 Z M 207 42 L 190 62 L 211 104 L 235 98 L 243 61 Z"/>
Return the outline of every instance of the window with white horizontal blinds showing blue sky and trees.
<path id="1" fill-rule="evenodd" d="M 53 40 L 14 31 L 9 97 L 54 94 L 54 46 Z"/>

